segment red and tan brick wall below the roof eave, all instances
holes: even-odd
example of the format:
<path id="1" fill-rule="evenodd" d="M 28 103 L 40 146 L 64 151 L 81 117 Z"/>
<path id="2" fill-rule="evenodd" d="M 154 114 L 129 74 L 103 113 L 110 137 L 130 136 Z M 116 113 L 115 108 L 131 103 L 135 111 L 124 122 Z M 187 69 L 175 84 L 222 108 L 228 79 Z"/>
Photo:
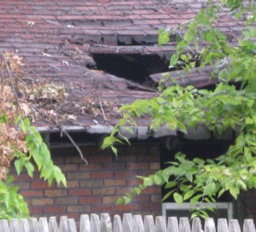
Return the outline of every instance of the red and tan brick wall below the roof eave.
<path id="1" fill-rule="evenodd" d="M 16 177 L 33 217 L 67 215 L 78 219 L 80 214 L 91 212 L 109 212 L 112 216 L 124 212 L 161 214 L 157 187 L 148 188 L 129 205 L 114 204 L 140 183 L 136 175 L 148 175 L 159 169 L 159 147 L 140 142 L 119 148 L 117 158 L 96 146 L 83 148 L 83 152 L 90 165 L 84 165 L 73 148 L 52 149 L 55 164 L 66 174 L 67 188 L 56 188 L 55 184 L 48 187 L 38 174 L 33 179 L 26 173 Z"/>

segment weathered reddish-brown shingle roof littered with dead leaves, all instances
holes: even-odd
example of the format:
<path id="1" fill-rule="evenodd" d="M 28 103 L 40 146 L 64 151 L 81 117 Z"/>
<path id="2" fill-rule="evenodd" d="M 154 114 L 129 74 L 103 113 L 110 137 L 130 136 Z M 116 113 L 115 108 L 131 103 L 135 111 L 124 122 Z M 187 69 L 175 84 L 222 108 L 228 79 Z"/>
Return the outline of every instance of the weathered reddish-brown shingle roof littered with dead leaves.
<path id="1" fill-rule="evenodd" d="M 108 69 L 99 70 L 96 68 L 99 62 L 103 68 L 106 62 L 113 60 L 116 69 L 121 71 L 124 69 L 118 63 L 121 60 L 130 62 L 131 67 L 144 58 L 148 59 L 149 67 L 152 62 L 165 63 L 176 51 L 176 44 L 158 46 L 158 29 L 175 28 L 193 19 L 206 2 L 2 1 L 0 48 L 22 57 L 22 81 L 28 86 L 26 100 L 32 108 L 42 111 L 34 116 L 39 129 L 55 130 L 55 123 L 47 119 L 46 113 L 53 117 L 61 115 L 62 118 L 56 119 L 58 122 L 63 119 L 62 124 L 69 130 L 109 133 L 119 119 L 119 106 L 157 96 L 153 85 L 160 78 L 157 73 L 162 72 L 146 68 L 151 83 L 145 85 L 145 81 L 133 78 L 134 73 L 127 79 L 114 71 L 108 73 Z M 228 14 L 220 14 L 217 24 L 227 34 L 240 32 L 242 26 L 241 21 L 235 21 Z M 102 57 L 105 60 L 101 60 Z M 131 67 L 129 72 L 142 68 Z M 214 80 L 208 82 L 207 73 L 195 73 L 189 78 L 189 84 L 203 87 L 215 83 Z M 138 125 L 137 136 L 146 138 L 148 119 L 139 119 Z M 154 136 L 173 131 L 163 129 L 159 133 Z"/>

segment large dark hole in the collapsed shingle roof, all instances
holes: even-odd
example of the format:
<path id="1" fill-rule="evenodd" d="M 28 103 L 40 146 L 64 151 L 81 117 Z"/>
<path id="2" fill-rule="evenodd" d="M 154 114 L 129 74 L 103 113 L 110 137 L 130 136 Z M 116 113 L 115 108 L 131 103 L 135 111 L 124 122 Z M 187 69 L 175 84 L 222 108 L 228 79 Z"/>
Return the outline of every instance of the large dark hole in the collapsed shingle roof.
<path id="1" fill-rule="evenodd" d="M 151 85 L 149 75 L 169 70 L 169 59 L 156 54 L 91 54 L 96 67 L 119 78 Z"/>

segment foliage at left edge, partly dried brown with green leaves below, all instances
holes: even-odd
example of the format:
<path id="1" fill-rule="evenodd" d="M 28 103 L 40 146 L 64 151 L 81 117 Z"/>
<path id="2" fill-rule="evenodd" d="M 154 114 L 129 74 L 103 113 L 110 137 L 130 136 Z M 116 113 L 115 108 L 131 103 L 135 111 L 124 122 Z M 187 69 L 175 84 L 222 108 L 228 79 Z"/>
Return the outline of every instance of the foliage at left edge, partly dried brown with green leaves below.
<path id="1" fill-rule="evenodd" d="M 33 177 L 36 165 L 44 181 L 51 184 L 55 180 L 66 186 L 66 179 L 60 168 L 53 164 L 47 145 L 26 117 L 30 113 L 29 107 L 18 99 L 17 80 L 13 76 L 20 74 L 20 65 L 19 56 L 1 52 L 0 218 L 28 216 L 26 202 L 18 193 L 18 187 L 12 184 L 14 177 L 9 175 L 12 161 L 18 175 L 25 167 L 27 174 Z"/>

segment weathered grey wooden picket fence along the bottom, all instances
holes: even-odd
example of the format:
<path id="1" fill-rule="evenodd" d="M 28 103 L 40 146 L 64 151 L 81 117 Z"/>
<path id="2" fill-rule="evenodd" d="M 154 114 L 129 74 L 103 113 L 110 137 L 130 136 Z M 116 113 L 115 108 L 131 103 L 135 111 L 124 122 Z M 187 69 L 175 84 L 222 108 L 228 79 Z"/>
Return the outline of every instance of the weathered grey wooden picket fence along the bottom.
<path id="1" fill-rule="evenodd" d="M 190 227 L 191 223 L 191 227 Z M 81 215 L 78 229 L 74 219 L 68 219 L 66 216 L 60 218 L 58 226 L 55 217 L 40 217 L 30 219 L 13 219 L 7 221 L 0 220 L 0 232 L 241 232 L 237 220 L 218 219 L 218 225 L 212 218 L 204 222 L 204 229 L 201 226 L 201 220 L 194 218 L 189 223 L 188 217 L 181 217 L 179 222 L 177 217 L 145 216 L 140 215 L 132 217 L 131 213 L 125 213 L 123 220 L 119 215 L 113 217 L 113 223 L 108 213 L 102 213 L 101 218 L 96 214 Z M 247 219 L 243 223 L 243 232 L 256 232 L 253 219 Z"/>

